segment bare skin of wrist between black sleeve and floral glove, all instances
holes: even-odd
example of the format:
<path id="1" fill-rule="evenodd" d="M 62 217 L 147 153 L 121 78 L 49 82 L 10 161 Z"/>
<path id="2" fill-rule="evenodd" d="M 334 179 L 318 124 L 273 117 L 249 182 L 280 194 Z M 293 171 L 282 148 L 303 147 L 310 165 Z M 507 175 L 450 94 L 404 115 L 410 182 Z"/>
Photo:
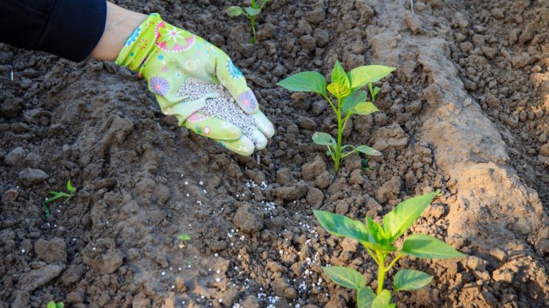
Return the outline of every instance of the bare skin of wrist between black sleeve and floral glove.
<path id="1" fill-rule="evenodd" d="M 114 61 L 130 34 L 141 25 L 147 15 L 132 12 L 107 2 L 105 31 L 91 53 L 97 60 Z"/>

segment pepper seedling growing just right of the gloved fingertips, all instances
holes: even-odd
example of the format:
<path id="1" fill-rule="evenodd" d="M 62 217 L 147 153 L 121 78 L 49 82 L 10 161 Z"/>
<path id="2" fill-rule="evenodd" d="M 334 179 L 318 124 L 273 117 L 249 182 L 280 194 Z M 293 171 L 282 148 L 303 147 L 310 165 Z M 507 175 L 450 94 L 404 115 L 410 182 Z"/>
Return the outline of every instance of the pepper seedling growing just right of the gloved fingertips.
<path id="1" fill-rule="evenodd" d="M 353 146 L 342 145 L 342 136 L 349 118 L 353 114 L 366 115 L 377 112 L 377 108 L 371 101 L 366 101 L 368 94 L 362 90 L 368 85 L 371 100 L 379 93 L 379 88 L 373 88 L 373 83 L 389 75 L 395 68 L 383 65 L 366 65 L 353 68 L 346 73 L 339 61 L 336 61 L 334 69 L 331 70 L 331 83 L 327 84 L 323 75 L 318 72 L 302 72 L 292 75 L 277 85 L 294 92 L 314 92 L 320 94 L 334 110 L 338 120 L 337 140 L 328 133 L 317 131 L 312 139 L 316 144 L 327 146 L 326 155 L 334 160 L 334 171 L 338 172 L 340 162 L 345 157 L 355 152 L 366 155 L 382 155 L 379 151 L 365 145 Z M 337 99 L 334 103 L 328 96 L 328 92 Z"/>

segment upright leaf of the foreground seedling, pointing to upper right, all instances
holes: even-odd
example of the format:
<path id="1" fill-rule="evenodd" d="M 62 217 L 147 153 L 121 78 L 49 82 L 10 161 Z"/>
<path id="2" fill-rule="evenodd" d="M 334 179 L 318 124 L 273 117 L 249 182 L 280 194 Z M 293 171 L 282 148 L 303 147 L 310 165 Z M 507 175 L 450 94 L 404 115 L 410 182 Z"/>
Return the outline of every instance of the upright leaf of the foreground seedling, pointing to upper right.
<path id="1" fill-rule="evenodd" d="M 394 242 L 410 228 L 437 194 L 439 194 L 438 190 L 430 194 L 409 198 L 385 215 L 383 229 L 390 235 L 391 242 Z"/>

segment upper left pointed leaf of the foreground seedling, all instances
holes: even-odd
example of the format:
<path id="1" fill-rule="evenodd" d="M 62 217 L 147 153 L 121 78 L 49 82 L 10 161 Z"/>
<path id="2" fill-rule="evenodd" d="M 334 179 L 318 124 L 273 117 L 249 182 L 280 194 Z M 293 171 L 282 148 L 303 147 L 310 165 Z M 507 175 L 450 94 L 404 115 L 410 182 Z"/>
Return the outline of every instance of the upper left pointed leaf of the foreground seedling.
<path id="1" fill-rule="evenodd" d="M 347 236 L 358 242 L 371 242 L 366 226 L 358 220 L 330 213 L 329 211 L 313 211 L 314 216 L 330 234 Z"/>

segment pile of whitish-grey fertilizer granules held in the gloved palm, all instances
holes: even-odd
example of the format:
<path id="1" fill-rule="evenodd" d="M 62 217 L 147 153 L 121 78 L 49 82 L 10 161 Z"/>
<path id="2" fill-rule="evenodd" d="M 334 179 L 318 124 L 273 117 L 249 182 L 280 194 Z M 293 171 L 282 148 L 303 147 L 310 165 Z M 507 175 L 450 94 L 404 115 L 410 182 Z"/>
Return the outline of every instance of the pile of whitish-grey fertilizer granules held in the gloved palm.
<path id="1" fill-rule="evenodd" d="M 215 116 L 215 118 L 220 118 L 240 127 L 244 136 L 254 140 L 253 131 L 257 129 L 256 120 L 240 109 L 235 99 L 223 86 L 203 84 L 200 81 L 189 79 L 179 89 L 177 95 L 178 97 L 186 97 L 185 102 L 200 99 L 205 94 L 212 92 L 218 93 L 220 96 L 215 99 L 207 99 L 206 105 L 199 111 L 207 116 Z"/>

